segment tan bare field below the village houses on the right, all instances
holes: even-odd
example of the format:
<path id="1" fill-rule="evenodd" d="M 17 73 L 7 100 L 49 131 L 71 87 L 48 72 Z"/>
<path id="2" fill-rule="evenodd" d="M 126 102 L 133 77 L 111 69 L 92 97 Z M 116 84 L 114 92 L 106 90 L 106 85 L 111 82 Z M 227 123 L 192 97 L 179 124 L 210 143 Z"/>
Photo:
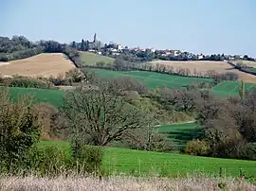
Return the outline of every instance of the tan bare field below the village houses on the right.
<path id="1" fill-rule="evenodd" d="M 214 70 L 220 74 L 233 72 L 236 73 L 241 80 L 256 83 L 256 76 L 233 69 L 232 66 L 226 61 L 150 61 L 149 63 L 153 63 L 154 65 L 159 63 L 160 65 L 170 66 L 173 67 L 175 71 L 180 68 L 188 68 L 192 75 L 194 73 L 201 73 L 202 75 L 205 75 L 210 70 Z"/>

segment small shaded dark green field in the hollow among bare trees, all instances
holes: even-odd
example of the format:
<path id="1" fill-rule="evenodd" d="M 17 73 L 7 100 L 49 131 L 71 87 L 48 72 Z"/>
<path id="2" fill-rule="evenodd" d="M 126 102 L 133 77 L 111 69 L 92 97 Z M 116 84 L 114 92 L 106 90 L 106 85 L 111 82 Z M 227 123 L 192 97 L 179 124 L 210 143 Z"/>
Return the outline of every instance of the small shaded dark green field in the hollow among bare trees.
<path id="1" fill-rule="evenodd" d="M 186 143 L 200 135 L 198 125 L 194 122 L 177 123 L 171 125 L 163 125 L 157 128 L 157 131 L 167 135 L 174 143 L 174 147 L 179 150 L 184 148 Z"/>

